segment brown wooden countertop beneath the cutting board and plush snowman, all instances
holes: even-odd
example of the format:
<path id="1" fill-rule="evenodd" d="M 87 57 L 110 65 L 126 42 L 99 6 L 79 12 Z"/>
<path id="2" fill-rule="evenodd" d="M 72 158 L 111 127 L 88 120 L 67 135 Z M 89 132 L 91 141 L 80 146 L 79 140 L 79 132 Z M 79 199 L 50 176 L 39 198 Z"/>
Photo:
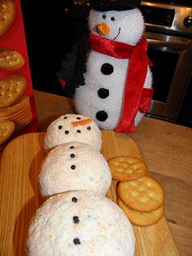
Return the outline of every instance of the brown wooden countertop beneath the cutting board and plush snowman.
<path id="1" fill-rule="evenodd" d="M 65 113 L 72 99 L 34 91 L 39 130 Z M 165 217 L 181 256 L 192 255 L 192 129 L 144 117 L 133 134 L 151 177 L 165 192 Z M 152 255 L 151 255 L 152 256 Z"/>

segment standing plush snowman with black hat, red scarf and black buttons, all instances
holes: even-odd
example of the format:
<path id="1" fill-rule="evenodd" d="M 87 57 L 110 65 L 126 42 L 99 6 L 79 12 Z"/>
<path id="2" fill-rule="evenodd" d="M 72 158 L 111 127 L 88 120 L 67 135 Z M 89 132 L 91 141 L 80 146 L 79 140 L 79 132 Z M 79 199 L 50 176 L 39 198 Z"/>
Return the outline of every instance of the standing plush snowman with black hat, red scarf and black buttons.
<path id="1" fill-rule="evenodd" d="M 73 87 L 76 113 L 91 117 L 100 129 L 133 132 L 153 95 L 140 1 L 89 2 L 90 51 L 81 68 L 85 80 L 76 75 L 76 84 L 63 63 L 60 81 L 64 90 Z"/>

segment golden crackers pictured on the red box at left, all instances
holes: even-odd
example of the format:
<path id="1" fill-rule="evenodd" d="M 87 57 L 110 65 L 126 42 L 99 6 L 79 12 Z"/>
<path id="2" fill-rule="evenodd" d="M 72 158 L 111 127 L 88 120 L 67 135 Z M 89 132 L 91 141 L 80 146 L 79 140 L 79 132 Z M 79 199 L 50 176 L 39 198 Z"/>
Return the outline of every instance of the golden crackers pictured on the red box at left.
<path id="1" fill-rule="evenodd" d="M 0 37 L 11 28 L 15 15 L 14 0 L 0 0 Z M 14 130 L 20 130 L 33 119 L 29 97 L 24 95 L 28 79 L 24 74 L 12 74 L 23 67 L 24 62 L 20 52 L 0 46 L 0 72 L 7 73 L 0 81 L 0 145 Z"/>

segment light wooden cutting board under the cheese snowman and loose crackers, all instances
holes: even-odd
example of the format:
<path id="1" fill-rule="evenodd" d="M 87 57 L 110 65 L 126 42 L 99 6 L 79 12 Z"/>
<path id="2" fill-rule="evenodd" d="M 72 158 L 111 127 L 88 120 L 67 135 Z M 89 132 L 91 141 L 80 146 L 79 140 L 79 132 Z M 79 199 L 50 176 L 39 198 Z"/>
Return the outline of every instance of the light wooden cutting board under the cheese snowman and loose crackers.
<path id="1" fill-rule="evenodd" d="M 129 136 L 114 131 L 102 131 L 102 135 L 102 152 L 107 160 L 120 155 L 142 159 L 137 144 Z M 45 133 L 22 135 L 12 140 L 2 152 L 0 255 L 24 255 L 28 224 L 42 203 L 38 171 L 42 160 L 46 157 L 43 149 L 44 136 Z M 113 201 L 116 201 L 115 188 L 116 183 L 113 182 L 107 193 Z M 178 255 L 164 217 L 151 227 L 133 227 L 133 229 L 136 236 L 136 256 Z"/>

